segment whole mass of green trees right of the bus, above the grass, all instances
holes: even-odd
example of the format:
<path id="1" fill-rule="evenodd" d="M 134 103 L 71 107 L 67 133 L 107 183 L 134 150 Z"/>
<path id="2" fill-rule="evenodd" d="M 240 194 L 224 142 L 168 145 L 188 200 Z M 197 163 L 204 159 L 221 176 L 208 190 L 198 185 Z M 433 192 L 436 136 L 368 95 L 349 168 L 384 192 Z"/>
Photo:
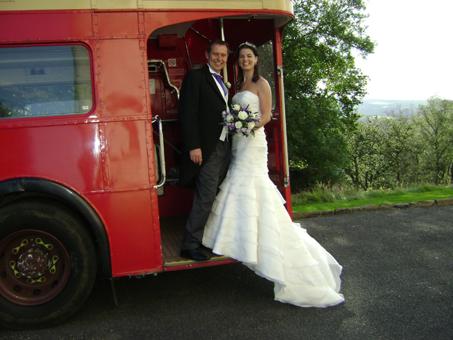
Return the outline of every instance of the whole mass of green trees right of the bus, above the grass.
<path id="1" fill-rule="evenodd" d="M 367 76 L 353 52 L 372 53 L 364 0 L 295 0 L 282 45 L 290 164 L 304 185 L 355 190 L 453 182 L 453 101 L 358 123 Z M 300 181 L 299 181 L 300 182 Z M 299 184 L 299 183 L 298 183 Z"/>

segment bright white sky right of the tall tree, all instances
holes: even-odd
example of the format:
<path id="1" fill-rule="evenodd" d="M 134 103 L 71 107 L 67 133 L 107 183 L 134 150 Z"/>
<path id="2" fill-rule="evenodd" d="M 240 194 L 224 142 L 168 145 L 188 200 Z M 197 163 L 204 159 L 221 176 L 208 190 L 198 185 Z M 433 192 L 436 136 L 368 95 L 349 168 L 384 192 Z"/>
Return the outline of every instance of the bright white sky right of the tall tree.
<path id="1" fill-rule="evenodd" d="M 369 76 L 364 99 L 453 100 L 453 0 L 369 0 L 374 54 L 355 64 Z"/>

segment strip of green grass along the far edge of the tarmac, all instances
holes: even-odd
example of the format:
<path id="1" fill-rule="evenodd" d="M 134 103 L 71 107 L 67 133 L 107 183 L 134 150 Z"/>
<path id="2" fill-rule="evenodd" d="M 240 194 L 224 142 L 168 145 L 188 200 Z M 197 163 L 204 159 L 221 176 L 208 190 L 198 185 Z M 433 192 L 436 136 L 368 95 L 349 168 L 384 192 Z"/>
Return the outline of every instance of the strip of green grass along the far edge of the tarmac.
<path id="1" fill-rule="evenodd" d="M 335 210 L 336 208 L 351 208 L 367 204 L 409 203 L 428 201 L 431 199 L 449 199 L 453 197 L 453 187 L 421 184 L 408 189 L 368 190 L 366 192 L 351 188 L 335 187 L 329 189 L 317 185 L 309 192 L 291 195 L 294 212 L 309 212 L 316 210 Z"/>

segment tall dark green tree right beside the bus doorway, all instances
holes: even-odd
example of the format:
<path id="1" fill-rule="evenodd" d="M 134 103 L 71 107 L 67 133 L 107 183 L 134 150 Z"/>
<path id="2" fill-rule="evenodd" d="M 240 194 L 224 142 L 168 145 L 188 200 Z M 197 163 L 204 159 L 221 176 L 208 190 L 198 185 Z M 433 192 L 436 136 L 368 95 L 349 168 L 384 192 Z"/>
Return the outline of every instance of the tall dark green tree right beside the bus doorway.
<path id="1" fill-rule="evenodd" d="M 289 157 L 309 169 L 312 181 L 340 177 L 347 162 L 346 132 L 367 77 L 353 50 L 372 53 L 365 34 L 364 0 L 295 0 L 295 20 L 282 42 Z"/>

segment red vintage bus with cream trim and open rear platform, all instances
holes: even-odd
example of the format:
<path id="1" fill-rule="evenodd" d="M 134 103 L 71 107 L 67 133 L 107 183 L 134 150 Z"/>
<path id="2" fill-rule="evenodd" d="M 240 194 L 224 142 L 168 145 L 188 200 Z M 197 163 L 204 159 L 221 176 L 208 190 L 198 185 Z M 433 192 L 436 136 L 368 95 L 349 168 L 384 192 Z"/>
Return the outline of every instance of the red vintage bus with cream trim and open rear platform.
<path id="1" fill-rule="evenodd" d="M 281 40 L 291 0 L 0 1 L 0 323 L 48 327 L 112 279 L 179 257 L 178 95 L 208 42 L 259 47 L 268 169 L 291 214 Z M 235 80 L 231 54 L 224 77 Z M 235 86 L 231 86 L 231 95 Z"/>

